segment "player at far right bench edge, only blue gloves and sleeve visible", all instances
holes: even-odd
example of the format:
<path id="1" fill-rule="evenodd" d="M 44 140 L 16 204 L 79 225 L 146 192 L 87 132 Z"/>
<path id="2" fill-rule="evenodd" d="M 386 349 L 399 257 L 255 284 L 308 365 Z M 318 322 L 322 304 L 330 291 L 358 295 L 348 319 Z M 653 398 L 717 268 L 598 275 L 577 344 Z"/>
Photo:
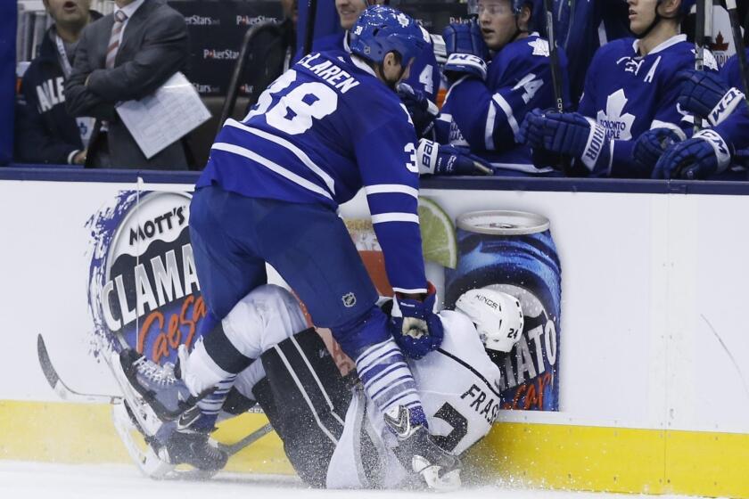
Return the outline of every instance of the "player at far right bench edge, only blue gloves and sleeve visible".
<path id="1" fill-rule="evenodd" d="M 663 152 L 653 177 L 746 180 L 745 167 L 737 165 L 745 162 L 745 150 L 749 149 L 749 105 L 737 88 L 741 83 L 735 81 L 737 86 L 729 86 L 718 75 L 695 70 L 685 72 L 683 77 L 679 105 L 706 119 L 710 127 Z"/>

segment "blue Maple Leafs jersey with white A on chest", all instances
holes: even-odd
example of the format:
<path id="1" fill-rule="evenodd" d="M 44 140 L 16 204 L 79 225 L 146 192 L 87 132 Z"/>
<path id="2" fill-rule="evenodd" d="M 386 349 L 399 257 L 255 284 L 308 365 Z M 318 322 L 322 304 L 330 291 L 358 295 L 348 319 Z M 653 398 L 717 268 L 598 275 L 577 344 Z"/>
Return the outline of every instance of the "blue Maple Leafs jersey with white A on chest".
<path id="1" fill-rule="evenodd" d="M 695 45 L 686 35 L 671 37 L 646 56 L 635 38 L 614 40 L 598 49 L 585 79 L 579 111 L 606 130 L 611 143 L 609 165 L 598 165 L 593 176 L 649 177 L 632 158 L 634 140 L 651 128 L 671 128 L 682 138 L 691 135 L 694 118 L 678 105 L 679 72 L 695 67 Z M 718 63 L 704 52 L 705 70 Z"/>

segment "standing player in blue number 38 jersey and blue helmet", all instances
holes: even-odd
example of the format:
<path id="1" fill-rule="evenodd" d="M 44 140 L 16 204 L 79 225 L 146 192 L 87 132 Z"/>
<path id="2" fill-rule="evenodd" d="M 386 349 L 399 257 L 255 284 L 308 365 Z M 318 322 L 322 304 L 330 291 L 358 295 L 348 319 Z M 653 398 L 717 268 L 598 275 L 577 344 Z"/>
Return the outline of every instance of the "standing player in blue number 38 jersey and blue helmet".
<path id="1" fill-rule="evenodd" d="M 394 92 L 425 45 L 414 20 L 377 6 L 353 27 L 351 53 L 303 57 L 243 121 L 227 120 L 219 132 L 196 184 L 190 236 L 210 311 L 204 324 L 212 322 L 204 345 L 219 369 L 237 373 L 252 361 L 226 338 L 220 321 L 267 281 L 268 263 L 313 322 L 329 328 L 355 360 L 367 396 L 402 450 L 419 457 L 415 462 L 449 470 L 459 462 L 429 437 L 404 359 L 404 353 L 424 356 L 442 338 L 435 290 L 424 275 L 416 133 Z M 396 293 L 392 319 L 376 307 L 374 285 L 336 214 L 362 187 Z M 121 356 L 118 365 L 165 419 L 177 418 L 185 399 L 202 395 L 184 383 L 182 391 L 161 389 L 160 375 L 138 359 Z M 202 402 L 215 403 L 215 396 Z M 202 430 L 205 441 L 214 421 L 201 417 L 183 426 Z"/>

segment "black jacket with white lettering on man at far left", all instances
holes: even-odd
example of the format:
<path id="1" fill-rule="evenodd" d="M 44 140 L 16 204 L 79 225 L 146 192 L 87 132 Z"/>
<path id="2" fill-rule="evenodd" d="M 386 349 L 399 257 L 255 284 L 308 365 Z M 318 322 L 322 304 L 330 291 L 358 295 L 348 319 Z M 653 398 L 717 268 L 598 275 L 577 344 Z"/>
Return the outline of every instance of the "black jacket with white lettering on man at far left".
<path id="1" fill-rule="evenodd" d="M 101 14 L 91 12 L 92 20 Z M 16 102 L 15 160 L 66 164 L 73 151 L 83 150 L 76 119 L 65 110 L 62 72 L 54 27 L 47 30 L 39 54 L 21 80 Z"/>

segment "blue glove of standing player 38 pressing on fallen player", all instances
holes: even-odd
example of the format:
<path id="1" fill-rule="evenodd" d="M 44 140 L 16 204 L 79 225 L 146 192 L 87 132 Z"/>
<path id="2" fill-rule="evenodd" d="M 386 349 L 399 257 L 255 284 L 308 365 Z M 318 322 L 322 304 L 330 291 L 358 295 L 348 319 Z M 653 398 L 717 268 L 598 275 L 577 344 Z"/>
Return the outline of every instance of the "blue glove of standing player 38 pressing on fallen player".
<path id="1" fill-rule="evenodd" d="M 426 297 L 421 301 L 396 293 L 390 325 L 392 336 L 405 356 L 417 359 L 440 348 L 444 331 L 440 317 L 434 312 L 436 300 L 437 290 L 432 282 L 427 283 Z"/>

